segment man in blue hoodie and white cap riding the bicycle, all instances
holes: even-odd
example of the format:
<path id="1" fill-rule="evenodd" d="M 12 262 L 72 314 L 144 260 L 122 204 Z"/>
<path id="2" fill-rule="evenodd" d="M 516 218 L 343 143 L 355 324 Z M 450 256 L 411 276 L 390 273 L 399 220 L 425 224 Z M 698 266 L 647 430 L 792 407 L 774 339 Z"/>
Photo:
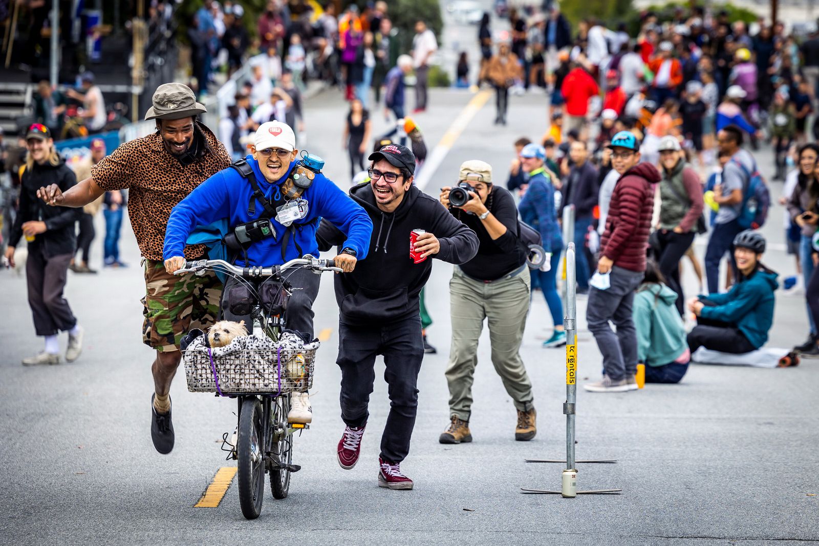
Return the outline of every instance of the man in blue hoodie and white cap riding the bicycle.
<path id="1" fill-rule="evenodd" d="M 165 230 L 165 269 L 173 273 L 185 263 L 183 248 L 197 226 L 227 218 L 225 241 L 244 266 L 275 266 L 304 254 L 318 256 L 315 231 L 324 217 L 345 234 L 335 258 L 342 270 L 353 271 L 366 257 L 373 222 L 359 204 L 320 172 L 296 161 L 296 136 L 285 123 L 262 123 L 256 130 L 251 154 L 208 178 L 170 214 Z M 287 328 L 313 338 L 312 306 L 319 293 L 319 275 L 300 269 L 287 275 L 293 291 L 287 304 Z M 229 295 L 240 281 L 227 280 L 222 314 L 228 320 L 250 316 L 230 312 Z M 294 392 L 288 414 L 291 423 L 310 423 L 306 392 Z"/>

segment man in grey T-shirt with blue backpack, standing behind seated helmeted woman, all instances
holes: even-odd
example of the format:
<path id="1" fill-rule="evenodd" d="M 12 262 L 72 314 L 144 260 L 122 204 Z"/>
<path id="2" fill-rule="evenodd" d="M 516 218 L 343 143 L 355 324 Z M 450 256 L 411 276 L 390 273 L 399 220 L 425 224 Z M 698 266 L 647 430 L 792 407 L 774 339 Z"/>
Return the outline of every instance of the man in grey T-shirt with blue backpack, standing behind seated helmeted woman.
<path id="1" fill-rule="evenodd" d="M 743 140 L 742 131 L 735 125 L 728 125 L 717 132 L 720 154 L 726 154 L 730 159 L 722 169 L 722 183 L 713 189 L 713 200 L 719 205 L 719 210 L 705 251 L 705 276 L 708 292 L 711 293 L 719 292 L 719 264 L 725 253 L 731 250 L 736 235 L 743 230 L 739 217 L 744 194 L 749 186 L 751 173 L 757 170 L 753 156 L 742 148 Z M 731 266 L 736 271 L 733 254 Z"/>

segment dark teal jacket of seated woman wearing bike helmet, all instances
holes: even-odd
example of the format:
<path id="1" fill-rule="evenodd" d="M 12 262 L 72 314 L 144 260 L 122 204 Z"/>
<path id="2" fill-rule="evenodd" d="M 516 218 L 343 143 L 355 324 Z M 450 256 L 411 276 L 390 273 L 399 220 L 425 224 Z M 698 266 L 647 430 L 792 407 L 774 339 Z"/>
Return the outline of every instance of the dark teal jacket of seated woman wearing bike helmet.
<path id="1" fill-rule="evenodd" d="M 767 342 L 767 333 L 773 322 L 776 301 L 773 291 L 778 287 L 776 273 L 759 269 L 734 284 L 726 293 L 699 296 L 699 299 L 716 304 L 716 307 L 703 307 L 699 315 L 704 319 L 735 324 L 753 347 L 762 347 Z"/>

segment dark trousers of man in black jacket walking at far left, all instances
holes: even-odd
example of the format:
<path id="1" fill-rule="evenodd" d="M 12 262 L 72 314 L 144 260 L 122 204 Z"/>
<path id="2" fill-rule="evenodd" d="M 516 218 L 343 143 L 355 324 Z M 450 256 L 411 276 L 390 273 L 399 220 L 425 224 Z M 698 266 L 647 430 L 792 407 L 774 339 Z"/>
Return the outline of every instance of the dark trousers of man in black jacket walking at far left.
<path id="1" fill-rule="evenodd" d="M 29 288 L 29 307 L 34 316 L 34 331 L 38 336 L 57 335 L 58 331 L 70 330 L 77 324 L 68 300 L 62 295 L 72 256 L 73 253 L 46 257 L 42 244 L 29 244 L 25 280 Z"/>

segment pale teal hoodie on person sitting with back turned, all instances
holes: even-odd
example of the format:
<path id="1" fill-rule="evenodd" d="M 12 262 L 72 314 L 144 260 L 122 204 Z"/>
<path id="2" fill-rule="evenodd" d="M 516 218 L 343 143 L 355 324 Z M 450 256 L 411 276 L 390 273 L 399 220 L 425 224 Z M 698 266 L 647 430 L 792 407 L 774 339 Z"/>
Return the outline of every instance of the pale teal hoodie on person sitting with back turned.
<path id="1" fill-rule="evenodd" d="M 665 284 L 645 283 L 634 297 L 637 361 L 649 366 L 672 363 L 686 350 L 686 329 Z"/>

